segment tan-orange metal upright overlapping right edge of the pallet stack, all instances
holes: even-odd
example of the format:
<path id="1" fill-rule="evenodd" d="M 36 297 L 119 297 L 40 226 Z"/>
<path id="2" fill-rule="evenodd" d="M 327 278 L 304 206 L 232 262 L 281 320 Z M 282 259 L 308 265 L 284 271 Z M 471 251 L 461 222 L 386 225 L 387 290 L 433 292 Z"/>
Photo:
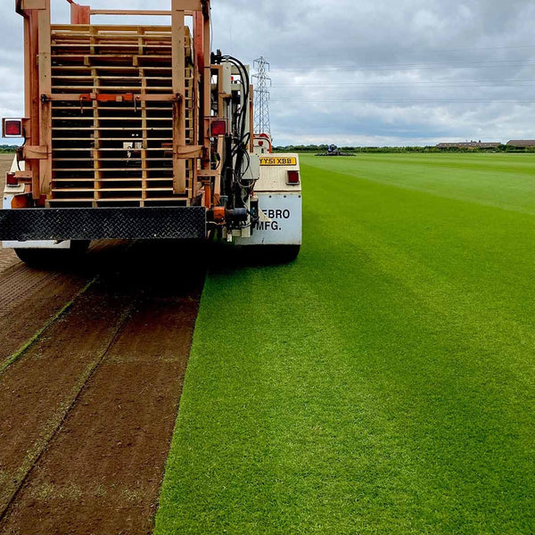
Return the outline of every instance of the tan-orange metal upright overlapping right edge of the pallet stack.
<path id="1" fill-rule="evenodd" d="M 171 0 L 171 43 L 173 94 L 178 100 L 173 105 L 173 192 L 185 193 L 185 160 L 180 157 L 185 146 L 185 31 L 184 10 L 180 0 Z"/>

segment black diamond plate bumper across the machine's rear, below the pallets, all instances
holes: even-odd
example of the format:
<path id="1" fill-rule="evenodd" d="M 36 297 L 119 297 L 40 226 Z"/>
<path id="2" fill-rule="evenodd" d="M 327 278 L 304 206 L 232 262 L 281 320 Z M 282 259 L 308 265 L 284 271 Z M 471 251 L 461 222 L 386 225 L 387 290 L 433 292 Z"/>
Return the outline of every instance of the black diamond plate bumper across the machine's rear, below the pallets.
<path id="1" fill-rule="evenodd" d="M 202 206 L 0 210 L 0 240 L 203 239 Z"/>

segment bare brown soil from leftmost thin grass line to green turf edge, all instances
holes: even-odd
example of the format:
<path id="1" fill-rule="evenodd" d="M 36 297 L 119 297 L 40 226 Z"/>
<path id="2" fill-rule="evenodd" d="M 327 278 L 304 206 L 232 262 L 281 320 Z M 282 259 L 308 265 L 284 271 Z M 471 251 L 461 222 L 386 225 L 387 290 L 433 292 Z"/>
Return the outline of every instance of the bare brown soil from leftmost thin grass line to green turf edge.
<path id="1" fill-rule="evenodd" d="M 22 433 L 11 452 L 0 448 L 1 468 L 22 465 L 26 475 L 0 532 L 152 532 L 204 279 L 203 262 L 192 262 L 198 251 L 164 263 L 158 254 L 146 245 L 129 251 L 1 379 L 0 422 L 12 418 L 9 429 L 0 428 L 0 443 L 12 441 L 13 429 Z M 93 374 L 84 375 L 87 366 Z M 44 393 L 48 400 L 36 403 Z M 37 421 L 52 424 L 38 435 L 40 453 L 24 465 L 17 452 L 31 453 Z"/>

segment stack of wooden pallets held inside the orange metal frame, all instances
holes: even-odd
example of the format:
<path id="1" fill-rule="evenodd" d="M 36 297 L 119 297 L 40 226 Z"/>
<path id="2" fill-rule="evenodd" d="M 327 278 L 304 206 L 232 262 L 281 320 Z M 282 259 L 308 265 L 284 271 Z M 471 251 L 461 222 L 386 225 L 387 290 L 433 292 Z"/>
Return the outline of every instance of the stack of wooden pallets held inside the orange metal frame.
<path id="1" fill-rule="evenodd" d="M 171 48 L 170 27 L 52 27 L 49 206 L 190 202 L 193 160 L 186 161 L 186 193 L 173 193 Z M 192 58 L 185 28 L 185 142 L 190 145 L 196 144 Z M 156 100 L 82 102 L 79 95 L 154 95 Z"/>

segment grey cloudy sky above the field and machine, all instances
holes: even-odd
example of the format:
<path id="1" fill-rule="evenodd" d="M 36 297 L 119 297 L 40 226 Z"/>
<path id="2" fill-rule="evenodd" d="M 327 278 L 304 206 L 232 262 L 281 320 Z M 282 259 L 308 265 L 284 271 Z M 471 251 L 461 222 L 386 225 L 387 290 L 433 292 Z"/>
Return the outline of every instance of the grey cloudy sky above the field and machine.
<path id="1" fill-rule="evenodd" d="M 22 21 L 0 4 L 0 115 L 17 117 Z M 212 0 L 212 15 L 214 48 L 270 62 L 276 144 L 535 137 L 535 0 Z"/>

